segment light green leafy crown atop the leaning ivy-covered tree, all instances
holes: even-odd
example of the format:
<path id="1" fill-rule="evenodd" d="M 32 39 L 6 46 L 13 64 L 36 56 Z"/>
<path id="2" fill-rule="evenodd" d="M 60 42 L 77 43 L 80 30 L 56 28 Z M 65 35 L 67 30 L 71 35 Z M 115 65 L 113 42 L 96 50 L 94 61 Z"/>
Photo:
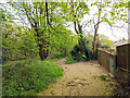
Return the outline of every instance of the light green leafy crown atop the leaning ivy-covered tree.
<path id="1" fill-rule="evenodd" d="M 60 3 L 60 2 L 58 2 Z M 74 8 L 72 8 L 74 5 Z M 86 2 L 62 2 L 60 3 L 62 17 L 66 22 L 76 22 L 78 19 L 78 24 L 84 14 L 89 14 L 88 3 Z M 72 11 L 74 10 L 74 11 Z M 74 15 L 75 14 L 75 15 Z"/>

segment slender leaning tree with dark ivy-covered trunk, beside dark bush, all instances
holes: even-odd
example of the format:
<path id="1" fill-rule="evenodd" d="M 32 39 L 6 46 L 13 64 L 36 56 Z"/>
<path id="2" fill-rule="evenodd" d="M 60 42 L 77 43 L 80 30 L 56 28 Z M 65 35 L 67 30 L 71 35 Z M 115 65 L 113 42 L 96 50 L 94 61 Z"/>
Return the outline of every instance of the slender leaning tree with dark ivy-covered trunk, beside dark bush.
<path id="1" fill-rule="evenodd" d="M 76 3 L 76 2 L 73 2 L 73 0 L 72 0 L 70 1 L 70 11 L 72 11 L 72 15 L 73 15 L 75 32 L 79 36 L 79 39 L 78 39 L 79 46 L 80 46 L 81 50 L 84 52 L 88 60 L 90 60 L 89 50 L 87 49 L 87 44 L 84 41 L 83 34 L 82 34 L 82 25 L 80 25 L 80 21 L 79 21 L 79 19 L 83 17 L 83 14 L 89 13 L 88 5 L 84 2 Z M 81 14 L 81 16 L 77 15 L 77 13 Z M 78 29 L 77 29 L 77 25 L 78 25 Z"/>

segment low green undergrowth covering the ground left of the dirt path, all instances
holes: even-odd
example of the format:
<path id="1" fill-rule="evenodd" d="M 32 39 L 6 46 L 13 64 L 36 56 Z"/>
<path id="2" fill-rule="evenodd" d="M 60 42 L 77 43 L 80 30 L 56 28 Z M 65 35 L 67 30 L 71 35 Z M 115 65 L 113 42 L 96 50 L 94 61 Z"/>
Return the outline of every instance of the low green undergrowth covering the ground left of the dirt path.
<path id="1" fill-rule="evenodd" d="M 51 60 L 28 59 L 4 63 L 2 96 L 37 95 L 60 76 L 63 76 L 63 69 Z"/>

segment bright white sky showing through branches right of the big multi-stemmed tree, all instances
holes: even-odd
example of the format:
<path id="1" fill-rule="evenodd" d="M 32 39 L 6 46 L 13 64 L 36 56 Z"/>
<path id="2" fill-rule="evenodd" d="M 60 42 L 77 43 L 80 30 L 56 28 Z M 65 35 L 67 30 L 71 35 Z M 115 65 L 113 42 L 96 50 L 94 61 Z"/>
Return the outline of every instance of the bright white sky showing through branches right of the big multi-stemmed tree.
<path id="1" fill-rule="evenodd" d="M 95 1 L 95 0 L 91 0 L 91 1 Z M 93 7 L 90 5 L 91 4 L 90 0 L 87 3 L 89 4 L 90 15 L 86 14 L 83 16 L 83 19 L 81 20 L 82 23 L 86 22 L 86 21 L 89 21 L 89 20 L 93 20 L 93 14 L 98 12 L 98 9 L 95 7 L 93 8 Z M 106 10 L 109 10 L 109 9 L 110 8 L 106 8 Z M 125 9 L 125 11 L 128 14 L 128 9 Z M 117 40 L 122 39 L 122 38 L 128 39 L 128 23 L 125 23 L 122 21 L 116 21 L 115 25 L 119 26 L 119 27 L 113 27 L 113 30 L 112 30 L 110 26 L 107 23 L 103 22 L 103 23 L 100 24 L 98 34 L 104 34 L 104 35 L 108 36 L 110 40 L 114 40 L 114 41 L 117 41 Z M 123 27 L 121 27 L 122 25 L 123 25 Z M 72 25 L 68 28 L 72 29 L 75 33 L 75 29 L 73 27 L 74 27 L 74 25 Z M 94 34 L 93 28 L 91 26 L 90 27 L 86 26 L 84 29 Z"/>

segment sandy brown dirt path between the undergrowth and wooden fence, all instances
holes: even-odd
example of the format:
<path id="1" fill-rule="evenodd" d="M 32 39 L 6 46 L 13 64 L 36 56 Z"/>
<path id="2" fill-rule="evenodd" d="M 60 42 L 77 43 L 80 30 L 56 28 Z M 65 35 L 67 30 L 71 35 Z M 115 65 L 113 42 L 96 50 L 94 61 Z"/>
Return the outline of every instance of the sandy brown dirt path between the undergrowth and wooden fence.
<path id="1" fill-rule="evenodd" d="M 107 71 L 96 61 L 65 64 L 65 59 L 55 63 L 64 69 L 64 76 L 51 83 L 49 89 L 38 96 L 108 96 L 115 89 L 115 83 Z M 106 81 L 101 79 L 106 75 Z"/>

